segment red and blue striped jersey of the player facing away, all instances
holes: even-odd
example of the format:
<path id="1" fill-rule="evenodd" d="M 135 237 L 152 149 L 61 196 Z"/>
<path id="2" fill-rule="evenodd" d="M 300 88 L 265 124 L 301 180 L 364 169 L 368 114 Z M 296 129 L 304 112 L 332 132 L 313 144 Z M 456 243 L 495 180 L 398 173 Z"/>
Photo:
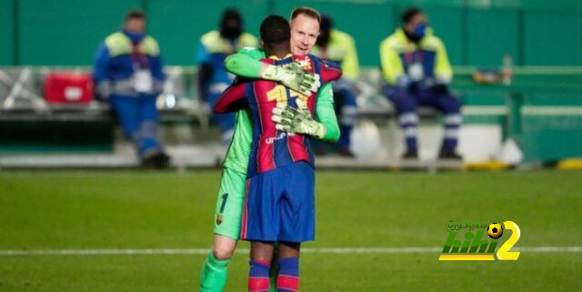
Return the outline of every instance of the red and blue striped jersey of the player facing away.
<path id="1" fill-rule="evenodd" d="M 336 80 L 342 75 L 339 68 L 328 65 L 314 55 L 289 55 L 281 60 L 269 58 L 261 61 L 273 65 L 298 61 L 304 70 L 319 75 L 322 83 Z M 269 80 L 237 82 L 226 89 L 216 102 L 214 111 L 219 114 L 235 111 L 243 105 L 248 106 L 253 124 L 248 177 L 297 161 L 306 161 L 314 166 L 314 156 L 306 136 L 276 130 L 276 124 L 271 120 L 273 108 L 277 104 L 284 103 L 296 108 L 296 98 L 301 98 L 312 116 L 315 116 L 316 93 L 304 96 Z"/>

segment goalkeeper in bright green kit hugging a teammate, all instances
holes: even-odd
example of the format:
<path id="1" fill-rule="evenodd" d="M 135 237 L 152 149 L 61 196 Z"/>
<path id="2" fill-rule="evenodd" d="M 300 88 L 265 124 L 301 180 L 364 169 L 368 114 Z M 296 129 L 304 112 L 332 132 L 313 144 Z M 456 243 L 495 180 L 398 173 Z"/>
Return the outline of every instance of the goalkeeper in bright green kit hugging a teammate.
<path id="1" fill-rule="evenodd" d="M 296 8 L 291 14 L 291 50 L 295 55 L 307 55 L 319 35 L 320 15 L 308 7 Z M 317 90 L 318 81 L 296 63 L 290 65 L 266 65 L 259 60 L 265 58 L 261 50 L 241 50 L 226 58 L 226 69 L 237 76 L 279 81 L 283 85 L 309 96 Z M 276 115 L 281 116 L 278 127 L 296 133 L 316 136 L 336 142 L 339 138 L 334 112 L 332 88 L 325 84 L 319 89 L 316 99 L 316 116 L 301 119 L 302 115 L 285 107 Z M 212 252 L 206 258 L 201 275 L 201 291 L 222 291 L 226 285 L 226 271 L 240 236 L 242 208 L 246 191 L 246 171 L 250 157 L 252 126 L 245 110 L 236 114 L 236 127 L 231 145 L 226 154 L 220 190 L 216 202 L 215 237 Z"/>

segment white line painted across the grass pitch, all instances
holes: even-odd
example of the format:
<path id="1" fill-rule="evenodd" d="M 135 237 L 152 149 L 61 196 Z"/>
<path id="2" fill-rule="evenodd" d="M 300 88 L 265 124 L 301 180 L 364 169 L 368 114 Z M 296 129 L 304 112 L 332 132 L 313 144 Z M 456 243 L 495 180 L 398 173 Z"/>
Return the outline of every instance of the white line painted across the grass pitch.
<path id="1" fill-rule="evenodd" d="M 423 254 L 440 253 L 442 247 L 305 247 L 304 254 Z M 206 255 L 209 248 L 160 249 L 8 249 L 0 250 L 1 257 L 8 256 L 132 256 L 132 255 Z M 582 247 L 515 247 L 511 251 L 527 253 L 579 253 Z M 237 254 L 247 254 L 248 248 L 236 249 Z"/>

